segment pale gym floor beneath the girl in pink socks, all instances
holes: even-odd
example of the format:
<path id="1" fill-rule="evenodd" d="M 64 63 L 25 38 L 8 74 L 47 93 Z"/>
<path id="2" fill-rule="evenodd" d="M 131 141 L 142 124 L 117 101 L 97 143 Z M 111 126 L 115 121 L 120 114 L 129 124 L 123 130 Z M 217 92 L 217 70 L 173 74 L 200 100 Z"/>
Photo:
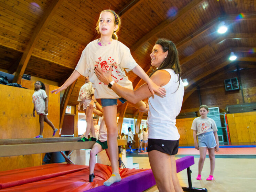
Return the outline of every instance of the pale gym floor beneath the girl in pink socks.
<path id="1" fill-rule="evenodd" d="M 178 158 L 177 158 L 178 159 Z M 190 167 L 192 170 L 192 186 L 206 188 L 208 192 L 255 192 L 256 159 L 216 158 L 214 180 L 206 181 L 210 173 L 210 160 L 206 158 L 202 171 L 202 180 L 196 180 L 198 174 L 198 160 Z M 133 157 L 139 168 L 150 168 L 148 157 Z M 178 173 L 181 186 L 188 186 L 186 170 Z M 156 186 L 147 192 L 158 192 Z"/>

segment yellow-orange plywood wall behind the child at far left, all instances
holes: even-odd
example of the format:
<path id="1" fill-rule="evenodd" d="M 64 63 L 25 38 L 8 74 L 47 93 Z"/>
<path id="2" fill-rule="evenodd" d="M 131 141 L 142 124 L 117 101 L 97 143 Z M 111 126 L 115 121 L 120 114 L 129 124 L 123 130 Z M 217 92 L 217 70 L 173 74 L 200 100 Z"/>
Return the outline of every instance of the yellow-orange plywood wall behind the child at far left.
<path id="1" fill-rule="evenodd" d="M 28 89 L 0 85 L 0 139 L 33 138 L 39 134 L 39 116 L 32 116 L 34 82 L 22 79 L 21 85 Z M 59 129 L 60 95 L 51 94 L 50 90 L 56 86 L 45 85 L 48 95 L 48 118 Z M 52 128 L 44 123 L 44 137 L 52 137 Z M 55 137 L 58 137 L 58 132 Z M 0 171 L 39 166 L 42 154 L 0 158 Z M 4 166 L 3 166 L 4 165 Z"/>

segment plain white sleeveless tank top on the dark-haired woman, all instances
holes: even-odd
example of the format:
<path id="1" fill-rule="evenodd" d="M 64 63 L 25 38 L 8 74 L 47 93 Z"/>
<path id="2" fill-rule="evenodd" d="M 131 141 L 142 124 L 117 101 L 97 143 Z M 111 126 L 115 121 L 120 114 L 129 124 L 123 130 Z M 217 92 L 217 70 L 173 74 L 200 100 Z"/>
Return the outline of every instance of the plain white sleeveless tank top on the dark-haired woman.
<path id="1" fill-rule="evenodd" d="M 171 69 L 165 69 L 171 75 L 170 81 L 163 86 L 166 95 L 154 94 L 149 97 L 149 113 L 147 123 L 149 139 L 178 140 L 180 134 L 176 125 L 184 95 L 183 82 Z"/>

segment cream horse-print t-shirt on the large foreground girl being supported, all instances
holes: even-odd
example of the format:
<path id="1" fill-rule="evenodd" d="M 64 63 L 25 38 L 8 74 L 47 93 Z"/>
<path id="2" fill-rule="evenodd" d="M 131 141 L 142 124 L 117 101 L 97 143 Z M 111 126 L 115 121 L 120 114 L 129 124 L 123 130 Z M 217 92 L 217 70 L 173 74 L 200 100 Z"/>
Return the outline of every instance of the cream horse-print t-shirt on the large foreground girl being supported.
<path id="1" fill-rule="evenodd" d="M 113 68 L 111 68 L 112 65 Z M 99 67 L 103 72 L 112 70 L 113 81 L 122 87 L 133 89 L 125 71 L 129 72 L 137 65 L 129 48 L 121 42 L 112 40 L 108 46 L 100 46 L 97 40 L 94 40 L 83 50 L 75 70 L 83 76 L 89 76 L 95 90 L 94 96 L 96 99 L 117 99 L 120 96 L 96 77 L 95 67 Z"/>

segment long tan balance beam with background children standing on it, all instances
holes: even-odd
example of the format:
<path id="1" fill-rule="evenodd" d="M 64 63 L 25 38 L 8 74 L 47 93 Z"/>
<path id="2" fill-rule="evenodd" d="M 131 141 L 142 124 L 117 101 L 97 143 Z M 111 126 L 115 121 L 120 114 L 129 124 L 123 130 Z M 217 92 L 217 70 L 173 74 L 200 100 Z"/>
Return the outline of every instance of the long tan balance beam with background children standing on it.
<path id="1" fill-rule="evenodd" d="M 95 141 L 77 142 L 79 138 L 80 137 L 68 138 L 68 139 L 67 138 L 0 139 L 0 151 L 1 151 L 0 157 L 10 157 L 10 156 L 58 152 L 58 151 L 71 151 L 71 150 L 79 150 L 79 149 L 91 149 L 95 143 Z M 24 140 L 23 143 L 22 143 L 22 140 Z M 127 145 L 126 140 L 123 140 L 123 139 L 118 139 L 117 142 L 118 142 L 118 145 Z"/>

